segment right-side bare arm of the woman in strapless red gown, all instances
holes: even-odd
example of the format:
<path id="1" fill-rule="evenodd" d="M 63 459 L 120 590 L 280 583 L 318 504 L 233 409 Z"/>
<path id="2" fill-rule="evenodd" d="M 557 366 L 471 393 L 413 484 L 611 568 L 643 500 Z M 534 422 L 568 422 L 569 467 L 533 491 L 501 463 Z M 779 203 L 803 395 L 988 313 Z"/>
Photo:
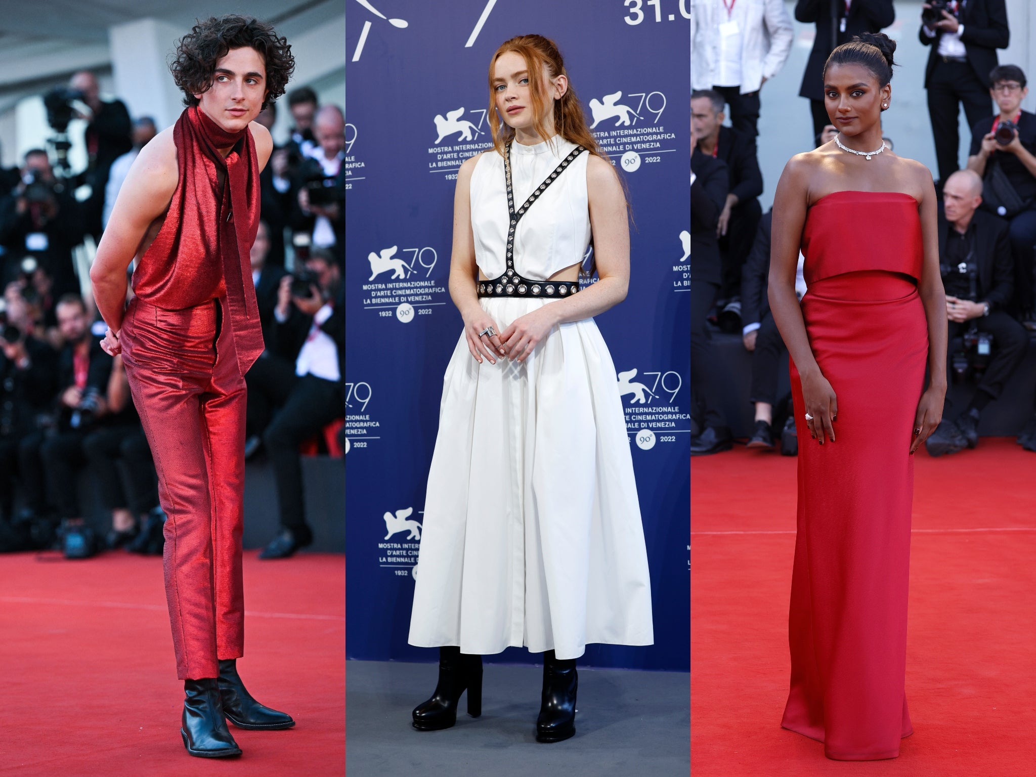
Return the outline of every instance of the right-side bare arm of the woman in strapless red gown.
<path id="1" fill-rule="evenodd" d="M 946 292 L 943 278 L 939 272 L 939 227 L 937 226 L 938 205 L 936 186 L 931 173 L 920 163 L 917 175 L 921 180 L 921 239 L 924 243 L 924 258 L 918 293 L 924 305 L 924 315 L 928 321 L 928 387 L 921 395 L 914 419 L 914 432 L 910 452 L 914 453 L 936 431 L 943 420 L 943 402 L 946 400 Z"/>

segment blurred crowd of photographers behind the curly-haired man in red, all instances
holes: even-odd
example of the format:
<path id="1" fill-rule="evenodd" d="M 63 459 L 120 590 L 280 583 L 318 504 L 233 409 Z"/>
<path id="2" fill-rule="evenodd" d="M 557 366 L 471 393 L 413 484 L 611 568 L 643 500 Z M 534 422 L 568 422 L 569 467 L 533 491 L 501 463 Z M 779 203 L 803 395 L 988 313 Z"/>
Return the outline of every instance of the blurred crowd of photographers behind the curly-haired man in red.
<path id="1" fill-rule="evenodd" d="M 251 252 L 267 347 L 246 376 L 246 453 L 269 461 L 281 519 L 264 558 L 312 542 L 299 451 L 339 453 L 332 432 L 345 412 L 345 119 L 309 87 L 287 104 L 290 137 L 260 176 Z M 103 99 L 90 71 L 45 105 L 54 137 L 20 168 L 0 168 L 0 551 L 162 553 L 154 465 L 121 357 L 99 347 L 106 326 L 87 275 L 119 188 L 159 127 Z M 257 120 L 272 128 L 277 110 Z M 87 122 L 78 171 L 65 135 L 74 118 Z M 80 493 L 84 484 L 91 493 Z M 93 505 L 102 526 L 89 519 Z"/>

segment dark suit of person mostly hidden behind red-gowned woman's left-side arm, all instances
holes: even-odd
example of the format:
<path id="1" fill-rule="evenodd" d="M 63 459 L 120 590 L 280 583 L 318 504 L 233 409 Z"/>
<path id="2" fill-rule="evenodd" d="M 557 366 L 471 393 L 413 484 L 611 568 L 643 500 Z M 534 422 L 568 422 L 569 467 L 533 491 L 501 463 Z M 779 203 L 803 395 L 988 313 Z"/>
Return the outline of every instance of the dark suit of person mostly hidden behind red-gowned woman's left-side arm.
<path id="1" fill-rule="evenodd" d="M 745 262 L 741 282 L 741 320 L 745 328 L 758 324 L 755 350 L 752 353 L 751 402 L 777 403 L 777 379 L 781 356 L 787 358 L 787 349 L 774 317 L 770 315 L 770 227 L 773 210 L 759 220 L 752 253 Z"/>

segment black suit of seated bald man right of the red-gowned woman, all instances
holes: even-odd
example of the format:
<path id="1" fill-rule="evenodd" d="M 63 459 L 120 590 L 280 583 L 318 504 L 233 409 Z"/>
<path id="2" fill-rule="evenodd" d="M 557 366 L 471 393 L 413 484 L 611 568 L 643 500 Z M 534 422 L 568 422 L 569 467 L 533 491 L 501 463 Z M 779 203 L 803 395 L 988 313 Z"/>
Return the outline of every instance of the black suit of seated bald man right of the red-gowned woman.
<path id="1" fill-rule="evenodd" d="M 943 277 L 956 270 L 947 256 L 947 242 L 953 238 L 953 225 L 946 221 L 942 207 L 939 211 L 939 260 Z M 1014 290 L 1014 263 L 1007 237 L 1007 224 L 995 215 L 976 210 L 968 231 L 968 246 L 977 265 L 973 301 L 989 304 L 989 315 L 965 322 L 949 322 L 950 355 L 954 338 L 959 338 L 974 322 L 979 332 L 992 335 L 992 353 L 978 387 L 996 399 L 1004 383 L 1025 357 L 1029 335 L 1004 308 L 1010 303 Z M 970 296 L 970 295 L 969 295 Z M 959 347 L 959 345 L 957 345 Z M 947 359 L 948 369 L 952 369 Z"/>

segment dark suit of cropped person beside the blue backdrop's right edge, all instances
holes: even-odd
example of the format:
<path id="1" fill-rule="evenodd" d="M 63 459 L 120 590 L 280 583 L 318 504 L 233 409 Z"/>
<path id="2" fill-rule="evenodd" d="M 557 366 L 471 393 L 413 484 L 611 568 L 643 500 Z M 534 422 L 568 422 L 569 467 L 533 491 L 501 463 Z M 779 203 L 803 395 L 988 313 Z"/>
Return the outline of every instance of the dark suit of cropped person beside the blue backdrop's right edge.
<path id="1" fill-rule="evenodd" d="M 719 386 L 709 333 L 709 310 L 720 282 L 716 224 L 726 202 L 727 169 L 722 160 L 697 149 L 691 154 L 691 392 L 692 413 L 699 429 L 724 427 Z"/>

